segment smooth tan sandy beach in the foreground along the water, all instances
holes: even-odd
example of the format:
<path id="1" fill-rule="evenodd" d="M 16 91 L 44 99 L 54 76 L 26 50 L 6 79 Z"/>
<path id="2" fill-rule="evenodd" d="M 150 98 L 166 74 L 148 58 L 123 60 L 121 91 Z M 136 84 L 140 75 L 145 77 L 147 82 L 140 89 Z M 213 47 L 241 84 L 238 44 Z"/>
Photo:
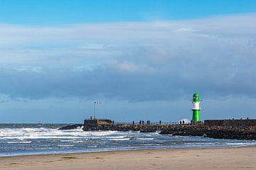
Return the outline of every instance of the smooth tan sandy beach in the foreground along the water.
<path id="1" fill-rule="evenodd" d="M 0 157 L 0 169 L 256 169 L 256 146 Z"/>

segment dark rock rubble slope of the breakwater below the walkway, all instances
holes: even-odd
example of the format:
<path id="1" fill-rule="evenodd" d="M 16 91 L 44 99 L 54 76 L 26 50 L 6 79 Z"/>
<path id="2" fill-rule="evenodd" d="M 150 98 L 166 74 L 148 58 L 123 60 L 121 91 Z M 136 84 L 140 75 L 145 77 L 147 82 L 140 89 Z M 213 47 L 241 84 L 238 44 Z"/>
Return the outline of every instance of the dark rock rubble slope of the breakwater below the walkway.
<path id="1" fill-rule="evenodd" d="M 178 136 L 200 136 L 212 137 L 216 139 L 232 140 L 256 140 L 256 126 L 216 126 L 203 124 L 189 125 L 69 125 L 60 130 L 74 129 L 82 127 L 84 131 L 90 130 L 115 130 L 115 131 L 139 131 L 139 132 L 156 132 L 163 135 Z"/>

